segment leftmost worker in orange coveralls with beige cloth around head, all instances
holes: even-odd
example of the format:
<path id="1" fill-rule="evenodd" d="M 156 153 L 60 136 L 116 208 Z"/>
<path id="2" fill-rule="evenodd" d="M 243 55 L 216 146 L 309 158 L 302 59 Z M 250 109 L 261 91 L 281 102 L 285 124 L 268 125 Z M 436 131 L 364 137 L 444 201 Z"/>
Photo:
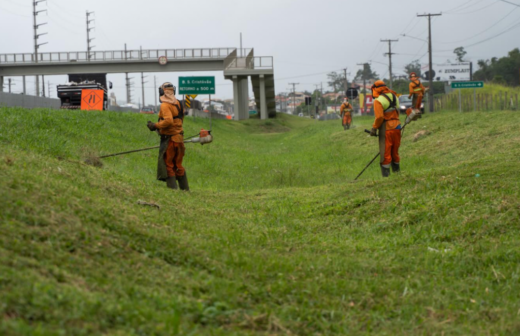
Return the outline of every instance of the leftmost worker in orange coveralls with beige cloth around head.
<path id="1" fill-rule="evenodd" d="M 185 152 L 183 120 L 184 114 L 180 102 L 175 98 L 175 86 L 164 83 L 159 87 L 161 109 L 159 122 L 148 122 L 150 131 L 159 130 L 161 145 L 157 166 L 157 179 L 166 181 L 168 188 L 189 190 L 188 178 L 183 167 Z"/>

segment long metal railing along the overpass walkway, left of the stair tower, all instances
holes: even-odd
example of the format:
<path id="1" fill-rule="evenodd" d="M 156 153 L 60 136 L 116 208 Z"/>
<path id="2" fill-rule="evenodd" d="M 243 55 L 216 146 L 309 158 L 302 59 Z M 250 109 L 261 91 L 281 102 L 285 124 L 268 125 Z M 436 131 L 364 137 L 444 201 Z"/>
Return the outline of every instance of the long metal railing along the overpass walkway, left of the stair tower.
<path id="1" fill-rule="evenodd" d="M 147 50 L 110 50 L 110 51 L 67 51 L 42 52 L 37 54 L 37 62 L 107 62 L 153 60 L 166 56 L 171 59 L 197 59 L 228 57 L 237 48 L 192 48 L 192 49 L 147 49 Z M 244 52 L 245 53 L 245 52 Z M 36 63 L 33 53 L 5 53 L 0 55 L 0 63 Z"/>

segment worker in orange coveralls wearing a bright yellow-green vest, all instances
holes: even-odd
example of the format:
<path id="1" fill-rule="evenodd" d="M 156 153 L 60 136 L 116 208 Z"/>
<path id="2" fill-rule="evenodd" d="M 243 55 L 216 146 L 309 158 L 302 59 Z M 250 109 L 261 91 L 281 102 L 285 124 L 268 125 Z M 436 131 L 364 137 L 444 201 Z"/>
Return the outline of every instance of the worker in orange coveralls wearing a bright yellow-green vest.
<path id="1" fill-rule="evenodd" d="M 390 176 L 399 172 L 399 146 L 401 145 L 401 122 L 399 120 L 399 100 L 396 92 L 390 90 L 382 80 L 372 85 L 375 120 L 370 135 L 375 137 L 379 129 L 379 151 L 381 154 L 381 174 Z"/>

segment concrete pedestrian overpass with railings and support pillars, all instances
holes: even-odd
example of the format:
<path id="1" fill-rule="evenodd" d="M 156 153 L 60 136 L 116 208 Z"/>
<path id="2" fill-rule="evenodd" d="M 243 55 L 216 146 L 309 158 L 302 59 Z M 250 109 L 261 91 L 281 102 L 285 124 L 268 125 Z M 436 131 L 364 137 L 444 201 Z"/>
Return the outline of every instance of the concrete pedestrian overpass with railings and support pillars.
<path id="1" fill-rule="evenodd" d="M 240 55 L 238 55 L 240 53 Z M 165 56 L 166 64 L 159 58 Z M 256 57 L 254 49 L 151 49 L 8 53 L 0 55 L 0 92 L 6 76 L 82 73 L 223 71 L 233 82 L 235 119 L 249 118 L 249 77 L 262 119 L 276 114 L 272 57 Z"/>

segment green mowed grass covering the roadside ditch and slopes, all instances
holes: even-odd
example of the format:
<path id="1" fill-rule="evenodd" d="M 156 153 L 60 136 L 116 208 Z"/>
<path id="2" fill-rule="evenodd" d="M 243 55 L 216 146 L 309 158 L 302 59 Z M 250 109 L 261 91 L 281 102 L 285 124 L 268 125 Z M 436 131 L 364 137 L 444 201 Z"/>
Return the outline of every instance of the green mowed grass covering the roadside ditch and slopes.
<path id="1" fill-rule="evenodd" d="M 83 163 L 148 118 L 0 109 L 0 334 L 520 333 L 519 113 L 426 115 L 388 179 L 353 182 L 368 117 L 213 120 L 190 193 L 156 151 Z"/>

